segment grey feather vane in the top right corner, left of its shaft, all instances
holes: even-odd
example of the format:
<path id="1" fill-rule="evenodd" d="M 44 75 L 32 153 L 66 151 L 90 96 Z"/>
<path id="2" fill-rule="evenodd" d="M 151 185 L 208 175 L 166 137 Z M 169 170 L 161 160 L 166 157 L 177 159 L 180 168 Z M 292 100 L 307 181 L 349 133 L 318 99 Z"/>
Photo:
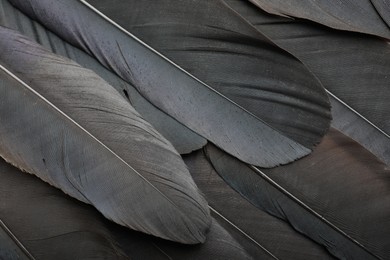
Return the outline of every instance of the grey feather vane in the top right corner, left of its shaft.
<path id="1" fill-rule="evenodd" d="M 388 25 L 378 15 L 375 0 L 249 0 L 264 11 L 303 18 L 328 27 L 390 38 Z"/>

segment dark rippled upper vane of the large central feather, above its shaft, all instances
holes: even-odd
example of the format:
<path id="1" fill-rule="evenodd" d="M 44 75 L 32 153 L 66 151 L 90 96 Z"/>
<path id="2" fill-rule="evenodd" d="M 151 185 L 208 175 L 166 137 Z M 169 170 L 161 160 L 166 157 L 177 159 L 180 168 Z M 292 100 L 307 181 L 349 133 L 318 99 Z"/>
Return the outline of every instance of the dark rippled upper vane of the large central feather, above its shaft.
<path id="1" fill-rule="evenodd" d="M 313 147 L 328 129 L 328 98 L 311 73 L 218 1 L 89 2 L 296 142 Z"/>

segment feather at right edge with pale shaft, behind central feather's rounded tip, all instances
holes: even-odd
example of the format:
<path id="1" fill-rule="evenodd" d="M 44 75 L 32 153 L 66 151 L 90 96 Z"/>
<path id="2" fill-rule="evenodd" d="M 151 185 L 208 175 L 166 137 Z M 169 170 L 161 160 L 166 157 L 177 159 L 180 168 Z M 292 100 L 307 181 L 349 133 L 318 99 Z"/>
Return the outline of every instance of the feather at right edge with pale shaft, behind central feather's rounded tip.
<path id="1" fill-rule="evenodd" d="M 330 95 L 333 127 L 390 164 L 390 45 L 385 40 L 271 16 L 244 1 L 225 2 L 318 77 Z"/>

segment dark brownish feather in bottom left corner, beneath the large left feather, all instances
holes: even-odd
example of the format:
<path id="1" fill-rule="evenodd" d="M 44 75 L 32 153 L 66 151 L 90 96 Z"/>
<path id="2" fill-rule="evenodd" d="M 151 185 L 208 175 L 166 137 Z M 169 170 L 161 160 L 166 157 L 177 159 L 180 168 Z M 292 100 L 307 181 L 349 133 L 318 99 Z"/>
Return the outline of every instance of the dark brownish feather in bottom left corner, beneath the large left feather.
<path id="1" fill-rule="evenodd" d="M 91 206 L 2 159 L 0 179 L 0 259 L 128 259 Z"/>

